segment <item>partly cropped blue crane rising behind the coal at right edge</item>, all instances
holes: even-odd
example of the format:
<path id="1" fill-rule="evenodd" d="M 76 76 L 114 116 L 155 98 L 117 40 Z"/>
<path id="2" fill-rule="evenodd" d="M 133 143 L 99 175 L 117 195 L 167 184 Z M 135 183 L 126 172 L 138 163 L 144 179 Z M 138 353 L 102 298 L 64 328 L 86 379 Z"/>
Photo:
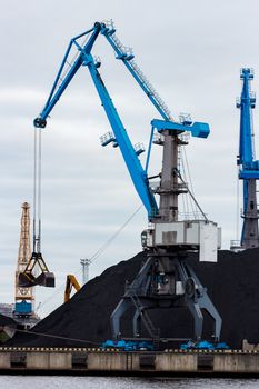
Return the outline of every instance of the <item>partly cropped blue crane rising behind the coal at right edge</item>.
<path id="1" fill-rule="evenodd" d="M 240 246 L 243 249 L 259 247 L 257 180 L 259 179 L 259 161 L 256 160 L 252 128 L 252 109 L 256 107 L 256 96 L 250 90 L 253 79 L 252 69 L 241 69 L 241 97 L 237 101 L 240 109 L 239 179 L 243 182 L 242 232 Z"/>

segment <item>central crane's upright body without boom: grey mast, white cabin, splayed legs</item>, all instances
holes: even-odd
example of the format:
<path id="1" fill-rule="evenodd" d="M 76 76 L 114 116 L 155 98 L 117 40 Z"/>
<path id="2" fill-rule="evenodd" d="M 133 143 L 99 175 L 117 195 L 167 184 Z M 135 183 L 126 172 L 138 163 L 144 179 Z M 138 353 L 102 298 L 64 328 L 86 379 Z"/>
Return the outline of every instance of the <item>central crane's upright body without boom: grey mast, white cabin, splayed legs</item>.
<path id="1" fill-rule="evenodd" d="M 203 331 L 202 310 L 213 319 L 212 337 L 220 338 L 222 320 L 210 300 L 207 289 L 188 263 L 188 255 L 199 251 L 201 261 L 216 261 L 218 248 L 217 225 L 205 220 L 179 220 L 178 198 L 189 191 L 182 182 L 178 168 L 179 148 L 186 144 L 181 134 L 185 126 L 166 120 L 152 120 L 151 124 L 161 136 L 157 144 L 162 146 L 162 170 L 156 193 L 160 196 L 158 215 L 141 235 L 147 261 L 126 291 L 111 315 L 113 338 L 121 337 L 121 318 L 135 308 L 133 336 L 141 335 L 141 325 L 152 339 L 159 340 L 160 330 L 149 317 L 151 309 L 187 308 L 195 321 L 195 339 Z M 195 123 L 193 136 L 207 138 L 206 123 Z M 212 238 L 212 239 L 211 239 Z M 206 242 L 209 247 L 206 247 Z"/>

